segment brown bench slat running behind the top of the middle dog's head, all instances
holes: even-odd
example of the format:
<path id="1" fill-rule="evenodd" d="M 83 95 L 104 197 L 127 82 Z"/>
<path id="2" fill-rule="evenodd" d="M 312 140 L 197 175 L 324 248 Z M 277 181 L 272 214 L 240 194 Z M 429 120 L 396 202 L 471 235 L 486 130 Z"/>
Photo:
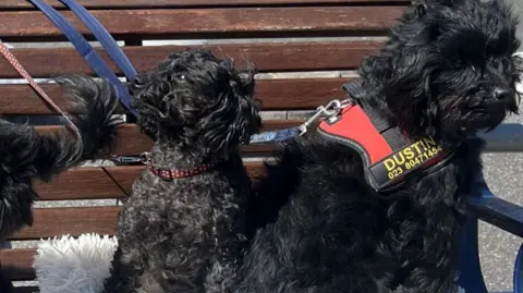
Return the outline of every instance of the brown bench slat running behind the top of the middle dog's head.
<path id="1" fill-rule="evenodd" d="M 217 56 L 230 57 L 242 68 L 248 60 L 259 72 L 275 71 L 321 71 L 351 70 L 362 60 L 376 52 L 381 41 L 319 41 L 319 42 L 264 42 L 209 45 Z M 186 48 L 203 46 L 126 47 L 123 49 L 137 71 L 156 66 L 169 54 Z M 33 77 L 56 77 L 58 75 L 94 74 L 84 59 L 71 48 L 13 49 L 12 52 Z M 101 51 L 100 51 L 101 52 Z M 101 53 L 111 69 L 120 74 L 109 57 Z M 0 77 L 20 78 L 11 64 L 0 58 Z"/>

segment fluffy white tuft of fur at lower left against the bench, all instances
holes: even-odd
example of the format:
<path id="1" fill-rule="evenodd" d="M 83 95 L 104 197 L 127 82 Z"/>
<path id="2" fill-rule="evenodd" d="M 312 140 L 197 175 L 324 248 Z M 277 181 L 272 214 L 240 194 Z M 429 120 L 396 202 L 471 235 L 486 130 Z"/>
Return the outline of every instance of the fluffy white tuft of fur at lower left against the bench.
<path id="1" fill-rule="evenodd" d="M 118 242 L 115 237 L 83 234 L 42 240 L 33 267 L 40 293 L 99 293 Z"/>

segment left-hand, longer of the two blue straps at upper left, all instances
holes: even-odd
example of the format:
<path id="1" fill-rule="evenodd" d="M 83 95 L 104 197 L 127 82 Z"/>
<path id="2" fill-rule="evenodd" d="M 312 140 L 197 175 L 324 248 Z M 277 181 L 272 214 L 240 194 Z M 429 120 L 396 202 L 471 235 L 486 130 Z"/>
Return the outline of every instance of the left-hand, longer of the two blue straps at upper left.
<path id="1" fill-rule="evenodd" d="M 73 44 L 74 48 L 90 65 L 93 71 L 98 74 L 99 77 L 106 78 L 117 90 L 117 95 L 120 98 L 122 105 L 136 118 L 139 114 L 131 109 L 131 97 L 129 96 L 127 88 L 112 72 L 112 70 L 106 64 L 100 54 L 89 45 L 87 39 L 76 29 L 74 26 L 63 17 L 57 10 L 45 3 L 42 0 L 29 0 L 33 5 L 39 9 L 46 16 L 58 27 L 65 37 Z"/>

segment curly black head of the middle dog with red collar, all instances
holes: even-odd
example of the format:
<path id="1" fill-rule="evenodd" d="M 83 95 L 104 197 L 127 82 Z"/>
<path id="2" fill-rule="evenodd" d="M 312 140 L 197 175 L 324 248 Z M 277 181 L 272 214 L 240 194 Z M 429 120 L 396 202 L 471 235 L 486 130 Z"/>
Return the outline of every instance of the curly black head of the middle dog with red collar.
<path id="1" fill-rule="evenodd" d="M 210 51 L 171 54 L 130 86 L 141 129 L 196 156 L 227 156 L 259 125 L 254 70 L 239 71 Z"/>

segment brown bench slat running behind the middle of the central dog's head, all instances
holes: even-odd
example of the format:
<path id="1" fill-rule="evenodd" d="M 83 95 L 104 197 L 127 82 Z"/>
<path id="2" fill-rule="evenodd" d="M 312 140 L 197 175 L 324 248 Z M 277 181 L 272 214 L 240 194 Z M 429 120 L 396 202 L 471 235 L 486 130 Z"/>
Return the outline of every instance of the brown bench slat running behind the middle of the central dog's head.
<path id="1" fill-rule="evenodd" d="M 311 110 L 344 95 L 341 86 L 350 78 L 258 80 L 256 98 L 264 110 Z M 60 87 L 42 84 L 41 88 L 62 109 L 70 110 Z M 0 113 L 52 114 L 29 85 L 0 85 Z M 119 111 L 123 113 L 124 110 Z"/>

